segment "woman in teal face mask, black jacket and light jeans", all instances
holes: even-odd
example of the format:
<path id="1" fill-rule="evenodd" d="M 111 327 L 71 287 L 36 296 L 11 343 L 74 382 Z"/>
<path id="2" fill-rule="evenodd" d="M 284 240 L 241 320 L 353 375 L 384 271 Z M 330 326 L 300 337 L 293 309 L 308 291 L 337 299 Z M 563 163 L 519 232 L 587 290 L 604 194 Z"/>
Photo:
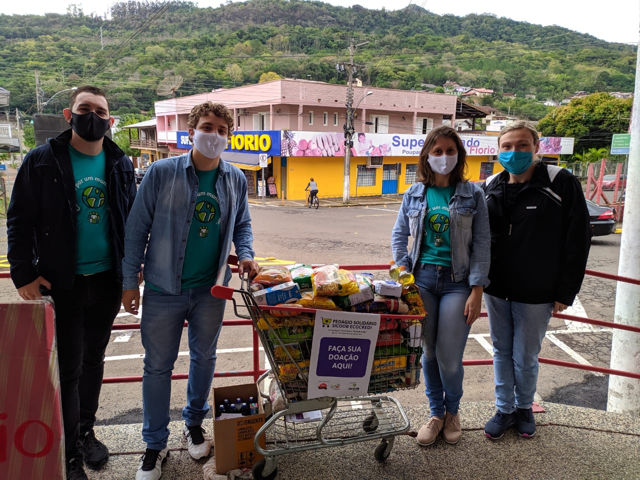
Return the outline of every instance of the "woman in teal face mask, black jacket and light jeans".
<path id="1" fill-rule="evenodd" d="M 531 404 L 538 354 L 553 313 L 573 304 L 591 246 L 582 187 L 568 170 L 534 160 L 540 140 L 527 122 L 498 137 L 504 171 L 484 185 L 491 231 L 491 284 L 484 290 L 493 342 L 496 414 L 484 433 L 536 433 Z"/>

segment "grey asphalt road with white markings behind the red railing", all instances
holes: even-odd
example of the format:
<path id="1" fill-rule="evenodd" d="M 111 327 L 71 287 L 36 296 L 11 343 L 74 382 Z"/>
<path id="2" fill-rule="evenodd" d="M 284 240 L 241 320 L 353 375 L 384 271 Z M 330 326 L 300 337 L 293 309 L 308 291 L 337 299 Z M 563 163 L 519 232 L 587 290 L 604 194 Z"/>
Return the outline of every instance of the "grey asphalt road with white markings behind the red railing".
<path id="1" fill-rule="evenodd" d="M 254 247 L 260 263 L 340 263 L 376 264 L 391 259 L 390 233 L 397 208 L 374 206 L 369 208 L 307 208 L 282 206 L 251 206 Z M 6 255 L 6 228 L 1 227 L 0 254 Z M 596 237 L 592 241 L 588 268 L 616 274 L 620 253 L 620 235 Z M 271 259 L 271 260 L 268 260 Z M 4 263 L 3 263 L 4 261 Z M 0 266 L 6 258 L 0 259 Z M 7 270 L 6 267 L 2 269 Z M 378 272 L 383 275 L 382 272 Z M 239 285 L 237 277 L 232 286 Z M 574 306 L 576 315 L 593 319 L 612 320 L 616 283 L 597 277 L 586 277 Z M 9 280 L 0 280 L 0 295 L 4 301 L 17 300 Z M 227 305 L 226 319 L 234 318 Z M 124 313 L 117 323 L 138 322 Z M 586 324 L 572 324 L 552 319 L 543 343 L 541 356 L 566 361 L 609 366 L 611 331 Z M 216 370 L 247 370 L 251 368 L 252 340 L 249 327 L 224 327 L 218 342 Z M 488 322 L 479 319 L 472 327 L 465 350 L 465 359 L 490 358 Z M 114 332 L 106 352 L 106 377 L 138 376 L 142 374 L 143 348 L 139 331 Z M 264 355 L 260 358 L 264 361 Z M 180 345 L 175 373 L 188 372 L 186 334 Z M 220 378 L 216 385 L 245 383 L 248 378 Z M 582 370 L 541 365 L 538 395 L 546 401 L 606 408 L 608 377 Z M 172 391 L 172 419 L 180 418 L 186 398 L 186 381 L 174 381 Z M 467 367 L 463 401 L 493 400 L 493 369 L 490 366 Z M 426 401 L 422 388 L 397 392 L 403 404 L 422 404 Z M 104 385 L 100 423 L 141 422 L 141 384 Z"/>

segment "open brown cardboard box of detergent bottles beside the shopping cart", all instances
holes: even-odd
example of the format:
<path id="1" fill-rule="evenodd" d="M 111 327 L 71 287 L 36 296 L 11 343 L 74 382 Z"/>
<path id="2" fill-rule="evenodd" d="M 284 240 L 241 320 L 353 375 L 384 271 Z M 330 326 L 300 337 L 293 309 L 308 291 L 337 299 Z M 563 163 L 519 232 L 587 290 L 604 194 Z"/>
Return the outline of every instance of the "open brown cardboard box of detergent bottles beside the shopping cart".
<path id="1" fill-rule="evenodd" d="M 213 445 L 216 456 L 216 470 L 224 475 L 236 468 L 252 468 L 253 464 L 264 458 L 255 451 L 253 438 L 264 425 L 262 399 L 255 383 L 230 385 L 213 388 L 211 408 L 223 403 L 224 399 L 241 397 L 244 401 L 254 397 L 258 402 L 257 415 L 246 415 L 239 418 L 213 420 Z M 264 449 L 264 435 L 260 437 L 260 447 Z"/>

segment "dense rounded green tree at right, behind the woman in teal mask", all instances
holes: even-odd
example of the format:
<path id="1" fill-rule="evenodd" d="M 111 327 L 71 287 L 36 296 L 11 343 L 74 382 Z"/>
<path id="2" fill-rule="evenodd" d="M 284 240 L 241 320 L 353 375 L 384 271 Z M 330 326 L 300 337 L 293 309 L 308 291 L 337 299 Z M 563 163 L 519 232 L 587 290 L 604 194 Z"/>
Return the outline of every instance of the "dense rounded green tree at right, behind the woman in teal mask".
<path id="1" fill-rule="evenodd" d="M 538 129 L 543 137 L 573 137 L 582 151 L 607 148 L 614 133 L 628 130 L 631 105 L 632 99 L 618 99 L 604 92 L 575 98 L 547 113 Z"/>

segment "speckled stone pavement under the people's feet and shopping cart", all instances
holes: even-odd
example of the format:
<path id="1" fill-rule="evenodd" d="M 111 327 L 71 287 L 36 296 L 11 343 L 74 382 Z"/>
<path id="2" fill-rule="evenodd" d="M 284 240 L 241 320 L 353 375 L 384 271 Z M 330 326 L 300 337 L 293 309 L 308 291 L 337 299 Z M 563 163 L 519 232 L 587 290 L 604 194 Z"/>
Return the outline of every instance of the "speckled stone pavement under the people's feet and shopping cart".
<path id="1" fill-rule="evenodd" d="M 408 435 L 396 437 L 385 463 L 373 456 L 378 442 L 362 442 L 283 455 L 276 480 L 638 480 L 640 479 L 640 418 L 601 410 L 541 403 L 534 438 L 511 429 L 500 440 L 488 440 L 484 422 L 493 415 L 492 402 L 461 405 L 463 436 L 457 445 L 442 438 L 420 447 Z M 404 408 L 417 430 L 428 417 L 425 405 Z M 211 431 L 211 419 L 204 424 Z M 140 424 L 96 427 L 111 447 L 111 459 L 90 480 L 131 480 L 144 449 Z M 172 422 L 170 456 L 161 480 L 204 479 L 205 461 L 186 451 L 182 422 Z"/>

